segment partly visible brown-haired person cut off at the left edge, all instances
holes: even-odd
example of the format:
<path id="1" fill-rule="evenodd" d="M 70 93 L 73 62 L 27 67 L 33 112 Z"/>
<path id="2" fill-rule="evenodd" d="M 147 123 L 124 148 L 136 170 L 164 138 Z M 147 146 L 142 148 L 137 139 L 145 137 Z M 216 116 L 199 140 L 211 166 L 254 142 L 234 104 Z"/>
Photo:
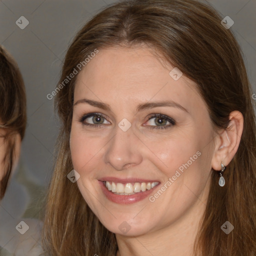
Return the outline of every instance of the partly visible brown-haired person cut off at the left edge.
<path id="1" fill-rule="evenodd" d="M 4 196 L 8 181 L 13 173 L 12 171 L 17 165 L 21 140 L 24 137 L 26 126 L 26 96 L 24 82 L 16 61 L 2 46 L 0 46 L 0 102 L 1 200 Z M 4 216 L 1 217 L 4 218 Z M 1 256 L 37 256 L 42 252 L 40 244 L 37 243 L 39 232 L 36 229 L 36 224 L 38 221 L 29 218 L 22 219 L 22 221 L 25 220 L 25 225 L 29 229 L 29 232 L 24 234 L 22 233 L 24 229 L 20 229 L 20 233 L 17 231 L 19 230 L 18 228 L 22 227 L 20 220 L 21 219 L 13 219 L 9 222 L 9 220 L 4 219 L 5 222 L 1 222 Z M 36 226 L 36 228 L 34 228 L 34 226 Z M 12 235 L 11 239 L 6 242 L 6 237 L 10 235 Z"/>

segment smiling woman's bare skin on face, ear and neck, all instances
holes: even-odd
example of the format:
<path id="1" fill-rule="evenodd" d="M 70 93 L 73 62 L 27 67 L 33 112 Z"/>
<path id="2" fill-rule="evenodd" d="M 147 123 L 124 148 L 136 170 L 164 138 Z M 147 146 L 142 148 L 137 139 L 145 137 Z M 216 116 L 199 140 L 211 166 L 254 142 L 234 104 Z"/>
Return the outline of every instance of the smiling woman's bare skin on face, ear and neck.
<path id="1" fill-rule="evenodd" d="M 74 103 L 86 97 L 111 107 L 74 105 L 70 150 L 80 174 L 79 190 L 101 223 L 115 233 L 119 256 L 192 255 L 210 172 L 220 170 L 221 160 L 227 165 L 239 145 L 242 114 L 231 112 L 228 131 L 214 134 L 195 83 L 184 75 L 175 81 L 169 75 L 172 68 L 146 46 L 118 46 L 100 49 L 77 76 Z M 138 104 L 158 100 L 173 100 L 188 112 L 158 106 L 136 113 Z M 105 115 L 102 127 L 80 122 L 89 112 Z M 155 117 L 148 120 L 152 113 L 165 114 L 175 124 L 150 129 L 159 125 Z M 131 123 L 125 132 L 117 125 L 123 118 Z M 83 122 L 96 123 L 91 117 Z M 158 180 L 161 187 L 197 151 L 201 155 L 154 202 L 145 198 L 117 204 L 105 197 L 98 184 L 103 176 L 138 177 Z M 130 226 L 125 234 L 118 228 L 123 221 Z"/>

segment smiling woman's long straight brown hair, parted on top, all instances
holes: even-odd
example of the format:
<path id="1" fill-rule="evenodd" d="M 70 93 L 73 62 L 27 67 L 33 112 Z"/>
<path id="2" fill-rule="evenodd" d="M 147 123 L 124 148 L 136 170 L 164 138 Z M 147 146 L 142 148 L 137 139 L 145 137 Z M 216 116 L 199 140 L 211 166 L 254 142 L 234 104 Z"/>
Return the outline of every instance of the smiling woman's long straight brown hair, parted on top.
<path id="1" fill-rule="evenodd" d="M 213 128 L 225 129 L 229 113 L 240 111 L 244 118 L 240 144 L 225 170 L 223 188 L 218 185 L 218 172 L 211 172 L 194 254 L 249 256 L 256 255 L 256 122 L 240 47 L 221 19 L 212 7 L 195 0 L 114 3 L 77 33 L 66 53 L 59 83 L 95 49 L 146 43 L 196 82 Z M 66 178 L 73 169 L 69 134 L 75 79 L 55 96 L 61 127 L 42 240 L 50 255 L 115 255 L 114 234 L 99 222 L 77 185 Z M 234 225 L 228 235 L 220 229 L 226 220 Z"/>

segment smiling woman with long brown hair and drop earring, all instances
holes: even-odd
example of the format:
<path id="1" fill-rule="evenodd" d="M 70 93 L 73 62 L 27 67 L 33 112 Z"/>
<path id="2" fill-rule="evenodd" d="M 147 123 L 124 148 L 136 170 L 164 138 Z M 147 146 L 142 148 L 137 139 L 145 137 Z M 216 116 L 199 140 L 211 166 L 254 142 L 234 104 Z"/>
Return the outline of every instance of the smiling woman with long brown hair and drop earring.
<path id="1" fill-rule="evenodd" d="M 122 1 L 78 32 L 55 89 L 50 255 L 255 255 L 252 92 L 221 19 Z"/>

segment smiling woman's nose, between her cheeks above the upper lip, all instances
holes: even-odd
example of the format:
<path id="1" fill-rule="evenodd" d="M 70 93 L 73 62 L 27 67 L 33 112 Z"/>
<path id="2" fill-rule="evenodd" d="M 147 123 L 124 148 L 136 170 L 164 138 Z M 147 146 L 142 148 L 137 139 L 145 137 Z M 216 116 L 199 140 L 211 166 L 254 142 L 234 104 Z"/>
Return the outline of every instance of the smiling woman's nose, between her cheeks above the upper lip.
<path id="1" fill-rule="evenodd" d="M 132 127 L 123 131 L 116 126 L 115 135 L 106 144 L 104 160 L 116 170 L 123 170 L 142 161 L 141 142 Z"/>

